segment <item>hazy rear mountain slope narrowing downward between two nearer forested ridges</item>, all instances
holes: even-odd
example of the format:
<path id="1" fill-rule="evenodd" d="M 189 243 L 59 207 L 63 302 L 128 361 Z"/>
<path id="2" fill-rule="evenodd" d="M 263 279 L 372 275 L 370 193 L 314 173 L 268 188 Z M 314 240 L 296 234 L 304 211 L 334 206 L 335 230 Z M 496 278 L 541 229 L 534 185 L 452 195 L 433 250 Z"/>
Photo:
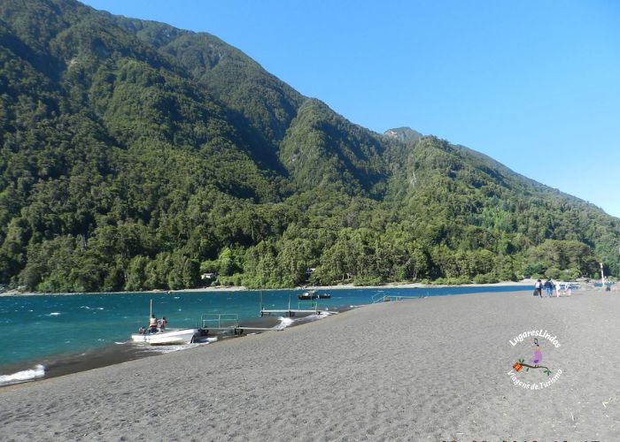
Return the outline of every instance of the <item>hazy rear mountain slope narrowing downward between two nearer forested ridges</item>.
<path id="1" fill-rule="evenodd" d="M 203 90 L 217 96 L 253 158 L 264 168 L 285 173 L 278 161 L 277 144 L 305 101 L 303 96 L 213 35 L 116 19 L 120 27 L 174 57 Z"/>

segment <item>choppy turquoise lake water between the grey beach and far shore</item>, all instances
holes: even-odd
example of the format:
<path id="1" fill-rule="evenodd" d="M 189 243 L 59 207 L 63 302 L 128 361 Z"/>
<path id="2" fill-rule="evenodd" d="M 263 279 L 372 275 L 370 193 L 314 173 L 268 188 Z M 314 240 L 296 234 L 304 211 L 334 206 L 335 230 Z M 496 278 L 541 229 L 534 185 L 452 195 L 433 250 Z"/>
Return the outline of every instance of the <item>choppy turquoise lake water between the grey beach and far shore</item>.
<path id="1" fill-rule="evenodd" d="M 394 296 L 441 296 L 464 293 L 515 292 L 523 286 L 433 287 L 417 289 L 337 289 L 320 307 L 342 309 L 372 302 L 382 292 Z M 319 293 L 326 291 L 319 290 Z M 300 291 L 262 291 L 265 309 L 298 307 Z M 131 333 L 148 324 L 153 313 L 166 316 L 169 328 L 196 327 L 205 313 L 233 313 L 239 321 L 260 318 L 260 292 L 87 293 L 0 297 L 0 373 L 23 362 L 24 368 L 44 358 L 75 354 L 126 343 Z M 307 305 L 307 302 L 306 302 Z M 307 307 L 306 307 L 307 308 Z"/>

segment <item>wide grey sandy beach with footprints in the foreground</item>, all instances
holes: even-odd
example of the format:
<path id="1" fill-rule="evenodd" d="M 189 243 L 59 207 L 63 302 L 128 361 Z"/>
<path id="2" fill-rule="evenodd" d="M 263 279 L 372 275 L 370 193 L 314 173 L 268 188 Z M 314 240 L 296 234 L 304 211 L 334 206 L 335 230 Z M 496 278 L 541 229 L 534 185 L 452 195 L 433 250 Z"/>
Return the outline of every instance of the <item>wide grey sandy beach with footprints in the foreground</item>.
<path id="1" fill-rule="evenodd" d="M 601 291 L 384 302 L 4 388 L 0 438 L 614 440 L 618 313 Z M 532 331 L 550 375 L 513 369 Z"/>

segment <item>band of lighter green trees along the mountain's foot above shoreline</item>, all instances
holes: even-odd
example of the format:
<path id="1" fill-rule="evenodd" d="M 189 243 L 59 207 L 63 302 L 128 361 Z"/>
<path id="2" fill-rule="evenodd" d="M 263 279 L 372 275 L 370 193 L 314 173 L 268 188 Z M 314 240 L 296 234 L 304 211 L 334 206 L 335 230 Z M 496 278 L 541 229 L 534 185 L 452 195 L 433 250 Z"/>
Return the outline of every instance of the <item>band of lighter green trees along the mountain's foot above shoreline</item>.
<path id="1" fill-rule="evenodd" d="M 513 244 L 474 226 L 457 232 L 430 220 L 400 220 L 384 204 L 345 195 L 305 212 L 300 202 L 302 207 L 257 205 L 204 196 L 163 217 L 157 228 L 121 221 L 98 225 L 89 236 L 33 240 L 32 223 L 14 221 L 7 235 L 12 241 L 5 240 L 2 251 L 12 263 L 19 256 L 27 260 L 21 269 L 18 264 L 12 285 L 42 292 L 180 289 L 210 284 L 201 280 L 204 273 L 215 273 L 216 284 L 249 287 L 461 284 L 596 277 L 599 270 L 593 250 L 578 241 L 546 240 L 527 248 L 518 234 Z M 346 204 L 338 210 L 335 202 Z"/>

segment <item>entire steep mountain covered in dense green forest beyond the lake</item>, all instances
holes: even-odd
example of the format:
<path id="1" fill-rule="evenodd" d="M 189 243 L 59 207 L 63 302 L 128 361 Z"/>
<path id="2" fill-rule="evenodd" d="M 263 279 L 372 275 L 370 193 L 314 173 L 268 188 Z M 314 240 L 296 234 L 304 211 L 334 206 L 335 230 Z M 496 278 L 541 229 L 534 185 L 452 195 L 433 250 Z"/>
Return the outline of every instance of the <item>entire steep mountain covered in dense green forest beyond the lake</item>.
<path id="1" fill-rule="evenodd" d="M 0 3 L 0 151 L 0 284 L 27 290 L 620 272 L 620 220 L 591 204 L 73 0 Z"/>

